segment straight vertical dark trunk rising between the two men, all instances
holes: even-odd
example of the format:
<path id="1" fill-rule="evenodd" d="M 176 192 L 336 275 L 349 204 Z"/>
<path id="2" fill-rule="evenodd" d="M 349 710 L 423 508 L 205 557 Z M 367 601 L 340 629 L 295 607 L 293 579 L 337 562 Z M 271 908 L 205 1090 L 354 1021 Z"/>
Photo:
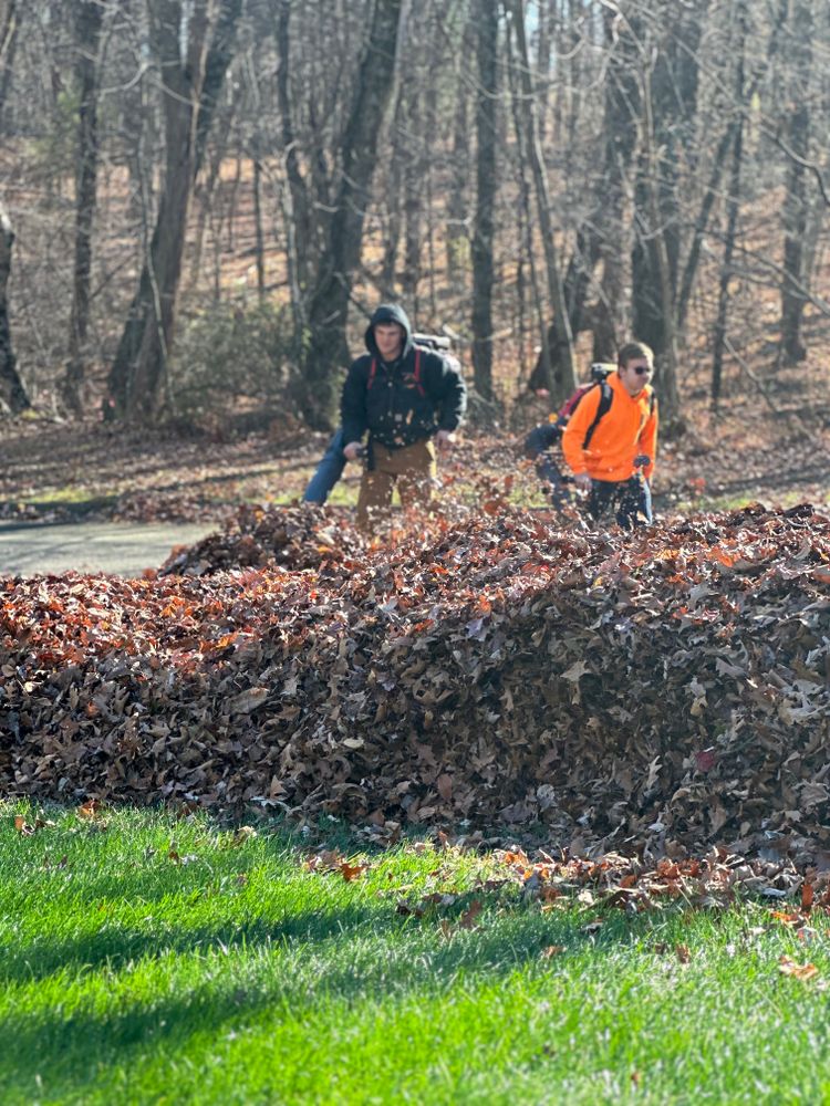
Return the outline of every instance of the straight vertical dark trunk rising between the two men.
<path id="1" fill-rule="evenodd" d="M 492 399 L 494 209 L 498 190 L 496 126 L 498 0 L 476 0 L 476 213 L 473 228 L 473 369 L 476 390 Z"/>

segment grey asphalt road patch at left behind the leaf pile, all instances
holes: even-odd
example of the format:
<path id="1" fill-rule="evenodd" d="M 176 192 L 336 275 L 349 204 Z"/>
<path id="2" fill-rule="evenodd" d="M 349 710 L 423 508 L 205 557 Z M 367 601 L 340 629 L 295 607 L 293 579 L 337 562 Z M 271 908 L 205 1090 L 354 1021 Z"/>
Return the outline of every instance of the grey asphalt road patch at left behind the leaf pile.
<path id="1" fill-rule="evenodd" d="M 175 545 L 193 545 L 211 525 L 131 522 L 0 522 L 0 577 L 107 572 L 141 576 Z"/>

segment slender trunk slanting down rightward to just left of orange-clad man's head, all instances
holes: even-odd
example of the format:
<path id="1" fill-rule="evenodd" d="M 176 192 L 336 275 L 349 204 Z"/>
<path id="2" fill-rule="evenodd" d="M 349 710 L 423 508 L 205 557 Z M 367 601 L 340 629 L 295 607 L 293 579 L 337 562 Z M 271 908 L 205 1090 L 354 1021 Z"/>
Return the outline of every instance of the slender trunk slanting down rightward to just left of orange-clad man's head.
<path id="1" fill-rule="evenodd" d="M 553 220 L 548 188 L 548 170 L 542 158 L 539 144 L 539 127 L 536 112 L 536 97 L 530 77 L 530 56 L 527 35 L 525 33 L 525 4 L 522 0 L 512 0 L 511 11 L 516 28 L 516 43 L 519 50 L 520 87 L 523 97 L 523 124 L 526 146 L 530 155 L 530 165 L 536 184 L 537 213 L 544 249 L 544 270 L 548 279 L 548 296 L 557 321 L 556 347 L 549 348 L 551 357 L 551 396 L 554 405 L 567 399 L 577 387 L 577 374 L 573 364 L 573 336 L 564 294 L 564 283 L 557 258 L 553 239 Z"/>

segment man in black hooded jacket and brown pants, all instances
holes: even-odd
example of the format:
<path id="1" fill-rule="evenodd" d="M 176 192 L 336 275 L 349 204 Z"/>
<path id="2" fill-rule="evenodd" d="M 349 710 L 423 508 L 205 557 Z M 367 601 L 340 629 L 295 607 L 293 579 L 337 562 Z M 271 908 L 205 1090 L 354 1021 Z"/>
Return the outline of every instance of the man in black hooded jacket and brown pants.
<path id="1" fill-rule="evenodd" d="M 363 528 L 372 512 L 388 509 L 395 484 L 404 507 L 429 502 L 435 445 L 452 448 L 467 406 L 458 363 L 415 345 L 406 312 L 397 304 L 381 304 L 365 342 L 369 353 L 352 363 L 340 405 L 349 460 L 361 455 L 369 431 L 357 500 Z"/>

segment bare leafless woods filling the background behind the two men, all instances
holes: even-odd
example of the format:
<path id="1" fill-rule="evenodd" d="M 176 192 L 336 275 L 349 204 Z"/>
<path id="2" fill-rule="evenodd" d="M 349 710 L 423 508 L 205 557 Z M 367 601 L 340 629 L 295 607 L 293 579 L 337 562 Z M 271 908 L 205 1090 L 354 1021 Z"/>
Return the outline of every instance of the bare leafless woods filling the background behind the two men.
<path id="1" fill-rule="evenodd" d="M 830 314 L 829 48 L 817 0 L 6 0 L 3 401 L 188 416 L 264 304 L 206 372 L 322 428 L 385 298 L 500 403 L 635 335 L 681 429 L 689 362 L 717 407 Z"/>

